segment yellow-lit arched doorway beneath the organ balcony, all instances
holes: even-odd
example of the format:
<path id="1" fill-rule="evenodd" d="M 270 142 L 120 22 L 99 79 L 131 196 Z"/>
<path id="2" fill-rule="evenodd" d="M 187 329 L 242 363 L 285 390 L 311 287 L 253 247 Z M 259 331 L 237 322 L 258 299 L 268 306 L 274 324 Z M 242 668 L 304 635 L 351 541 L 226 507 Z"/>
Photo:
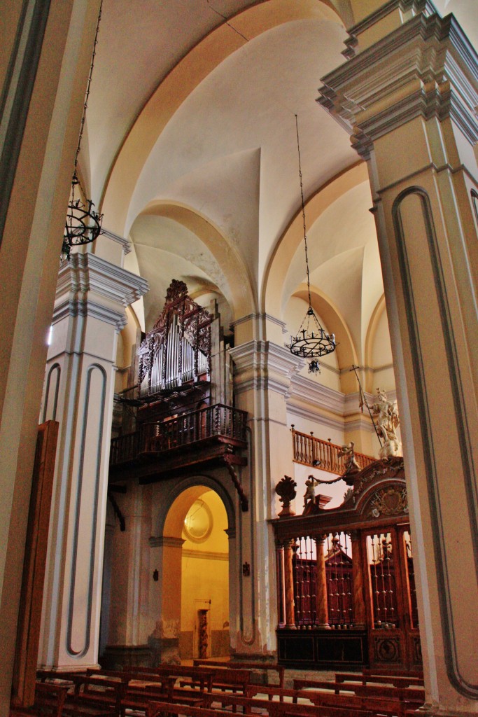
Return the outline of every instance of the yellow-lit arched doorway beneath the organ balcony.
<path id="1" fill-rule="evenodd" d="M 229 655 L 229 522 L 223 499 L 204 484 L 182 490 L 168 510 L 161 604 L 177 635 L 171 659 Z"/>

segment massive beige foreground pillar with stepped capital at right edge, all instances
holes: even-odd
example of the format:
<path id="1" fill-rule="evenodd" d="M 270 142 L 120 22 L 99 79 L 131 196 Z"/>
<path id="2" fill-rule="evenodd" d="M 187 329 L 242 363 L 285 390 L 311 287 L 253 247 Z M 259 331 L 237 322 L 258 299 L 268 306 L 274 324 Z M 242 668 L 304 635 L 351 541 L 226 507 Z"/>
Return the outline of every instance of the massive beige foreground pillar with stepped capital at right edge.
<path id="1" fill-rule="evenodd" d="M 410 3 L 415 16 L 398 24 L 392 5 L 350 31 L 350 60 L 323 78 L 320 103 L 368 162 L 426 708 L 469 715 L 478 713 L 478 57 L 453 16 Z"/>

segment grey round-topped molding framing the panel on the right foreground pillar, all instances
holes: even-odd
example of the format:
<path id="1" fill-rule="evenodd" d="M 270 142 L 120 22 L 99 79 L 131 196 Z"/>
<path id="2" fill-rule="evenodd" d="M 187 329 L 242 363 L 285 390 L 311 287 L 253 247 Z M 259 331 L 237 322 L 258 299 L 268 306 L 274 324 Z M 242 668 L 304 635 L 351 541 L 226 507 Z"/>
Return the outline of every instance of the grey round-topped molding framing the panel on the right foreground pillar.
<path id="1" fill-rule="evenodd" d="M 430 261 L 434 279 L 434 299 L 436 306 L 440 309 L 441 331 L 444 341 L 444 348 L 448 359 L 449 377 L 449 399 L 454 408 L 455 428 L 457 430 L 457 441 L 447 446 L 448 451 L 459 452 L 462 464 L 462 480 L 467 493 L 467 506 L 459 516 L 459 521 L 464 525 L 468 521 L 468 528 L 471 535 L 471 544 L 478 544 L 478 496 L 477 496 L 477 472 L 473 461 L 473 440 L 467 418 L 467 401 L 464 396 L 464 387 L 460 373 L 459 355 L 457 342 L 454 338 L 454 325 L 451 320 L 451 309 L 449 298 L 446 292 L 445 268 L 439 241 L 436 237 L 433 212 L 429 195 L 421 187 L 411 186 L 398 194 L 392 207 L 393 228 L 398 254 L 398 267 L 401 275 L 403 290 L 403 301 L 408 323 L 408 335 L 410 336 L 411 356 L 413 358 L 414 383 L 416 386 L 416 402 L 418 404 L 419 429 L 421 432 L 421 444 L 423 446 L 424 475 L 428 492 L 428 502 L 432 533 L 434 536 L 433 549 L 436 564 L 436 578 L 438 599 L 441 612 L 441 635 L 444 640 L 444 662 L 449 681 L 457 692 L 472 698 L 478 699 L 478 682 L 467 680 L 462 673 L 462 662 L 460 660 L 460 649 L 467 650 L 466 641 L 458 644 L 459 638 L 463 638 L 459 627 L 456 627 L 456 616 L 453 612 L 453 600 L 451 598 L 451 578 L 449 566 L 454 561 L 449 537 L 456 531 L 456 524 L 448 519 L 441 503 L 446 500 L 444 490 L 441 486 L 440 470 L 443 470 L 443 460 L 440 452 L 436 450 L 434 438 L 434 425 L 431 420 L 431 395 L 436 386 L 430 385 L 427 381 L 426 347 L 421 341 L 423 327 L 419 322 L 416 311 L 415 283 L 412 280 L 410 270 L 410 257 L 408 255 L 408 243 L 406 232 L 402 224 L 402 203 L 408 197 L 414 195 L 421 203 L 421 212 L 426 229 L 426 243 L 423 242 L 423 252 L 428 252 L 426 258 Z M 422 330 L 422 331 L 421 331 Z M 475 561 L 476 565 L 476 561 Z M 469 594 L 469 591 L 468 591 Z M 467 598 L 464 590 L 463 599 Z"/>

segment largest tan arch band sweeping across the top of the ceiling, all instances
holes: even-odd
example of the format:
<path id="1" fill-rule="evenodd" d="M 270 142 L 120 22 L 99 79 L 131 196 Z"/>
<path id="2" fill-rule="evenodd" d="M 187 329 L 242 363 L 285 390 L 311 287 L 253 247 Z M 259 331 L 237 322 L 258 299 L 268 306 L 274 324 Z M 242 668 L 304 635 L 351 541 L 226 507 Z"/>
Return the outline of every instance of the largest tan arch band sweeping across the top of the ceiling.
<path id="1" fill-rule="evenodd" d="M 348 0 L 265 0 L 236 14 L 234 27 L 250 41 L 273 27 L 301 19 L 348 23 Z M 231 32 L 231 20 L 204 37 L 173 67 L 125 137 L 100 201 L 105 223 L 112 231 L 124 233 L 136 182 L 168 121 L 199 83 L 246 42 L 237 32 Z"/>

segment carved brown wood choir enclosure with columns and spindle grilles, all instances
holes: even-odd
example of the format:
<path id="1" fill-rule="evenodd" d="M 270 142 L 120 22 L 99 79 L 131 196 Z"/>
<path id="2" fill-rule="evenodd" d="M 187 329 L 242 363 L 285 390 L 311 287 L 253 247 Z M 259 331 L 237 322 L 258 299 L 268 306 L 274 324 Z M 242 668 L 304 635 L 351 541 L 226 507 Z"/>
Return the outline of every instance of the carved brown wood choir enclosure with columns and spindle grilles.
<path id="1" fill-rule="evenodd" d="M 340 507 L 272 526 L 279 663 L 421 668 L 403 458 L 360 470 Z"/>

